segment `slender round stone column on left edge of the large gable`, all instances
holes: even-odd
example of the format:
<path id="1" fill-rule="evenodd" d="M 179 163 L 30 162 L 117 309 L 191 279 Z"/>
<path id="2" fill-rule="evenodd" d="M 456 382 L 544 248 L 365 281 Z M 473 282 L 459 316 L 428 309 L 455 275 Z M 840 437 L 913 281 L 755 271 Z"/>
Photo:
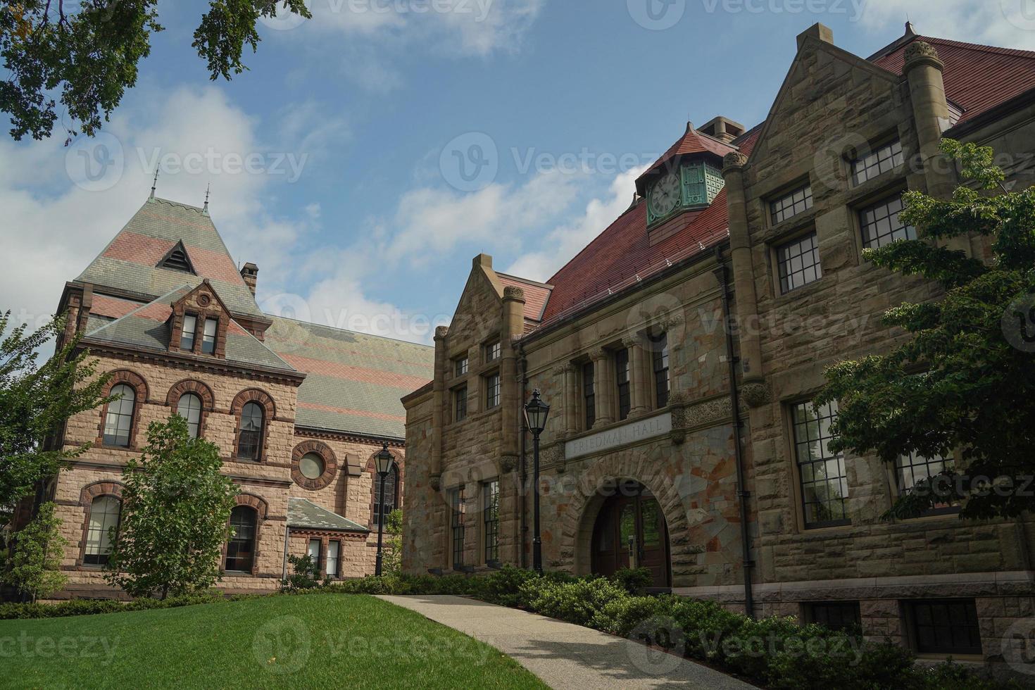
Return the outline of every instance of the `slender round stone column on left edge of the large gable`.
<path id="1" fill-rule="evenodd" d="M 730 260 L 736 296 L 737 332 L 740 340 L 740 371 L 744 381 L 762 378 L 762 346 L 759 341 L 759 299 L 755 292 L 751 236 L 747 228 L 744 166 L 747 156 L 731 152 L 722 159 L 726 200 L 730 213 Z"/>

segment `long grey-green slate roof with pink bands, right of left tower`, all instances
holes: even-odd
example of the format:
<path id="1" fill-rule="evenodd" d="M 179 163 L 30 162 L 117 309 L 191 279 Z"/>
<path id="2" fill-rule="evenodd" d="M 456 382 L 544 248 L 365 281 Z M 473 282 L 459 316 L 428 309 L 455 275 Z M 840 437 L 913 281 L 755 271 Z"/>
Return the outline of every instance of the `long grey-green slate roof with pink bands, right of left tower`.
<path id="1" fill-rule="evenodd" d="M 400 398 L 435 376 L 435 349 L 271 317 L 265 343 L 305 372 L 295 424 L 402 439 Z"/>

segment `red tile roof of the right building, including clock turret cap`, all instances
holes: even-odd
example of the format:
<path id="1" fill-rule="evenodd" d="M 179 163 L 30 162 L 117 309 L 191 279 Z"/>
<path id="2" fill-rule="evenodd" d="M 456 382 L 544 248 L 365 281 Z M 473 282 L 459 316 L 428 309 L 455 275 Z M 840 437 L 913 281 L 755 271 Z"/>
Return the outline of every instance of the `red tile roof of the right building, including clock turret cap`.
<path id="1" fill-rule="evenodd" d="M 964 111 L 957 125 L 1035 87 L 1033 52 L 919 36 L 912 33 L 912 29 L 868 59 L 901 74 L 906 48 L 915 40 L 934 46 L 945 63 L 946 96 Z M 729 151 L 740 151 L 749 155 L 763 124 L 728 145 L 696 131 L 688 123 L 683 136 L 651 169 L 687 153 L 708 152 L 721 156 Z M 948 133 L 951 136 L 951 131 Z M 648 174 L 641 176 L 638 184 Z M 610 295 L 628 290 L 640 279 L 672 263 L 711 250 L 729 234 L 724 190 L 709 208 L 683 215 L 682 222 L 683 227 L 676 233 L 650 246 L 646 205 L 642 200 L 633 204 L 548 280 L 553 290 L 548 296 L 541 322 L 535 328 L 548 327 Z"/>

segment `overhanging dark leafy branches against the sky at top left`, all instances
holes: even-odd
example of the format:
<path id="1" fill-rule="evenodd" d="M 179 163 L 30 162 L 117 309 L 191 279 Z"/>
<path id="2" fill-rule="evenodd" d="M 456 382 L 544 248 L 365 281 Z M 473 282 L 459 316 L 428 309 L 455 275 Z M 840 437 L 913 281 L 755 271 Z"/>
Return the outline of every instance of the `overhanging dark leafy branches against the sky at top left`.
<path id="1" fill-rule="evenodd" d="M 151 53 L 158 24 L 157 0 L 0 0 L 0 110 L 11 120 L 10 134 L 45 139 L 61 106 L 89 136 L 100 128 L 137 84 L 141 58 Z M 246 67 L 245 46 L 259 46 L 256 24 L 277 12 L 310 13 L 304 0 L 208 0 L 208 11 L 191 47 L 207 62 L 211 79 L 231 79 Z"/>

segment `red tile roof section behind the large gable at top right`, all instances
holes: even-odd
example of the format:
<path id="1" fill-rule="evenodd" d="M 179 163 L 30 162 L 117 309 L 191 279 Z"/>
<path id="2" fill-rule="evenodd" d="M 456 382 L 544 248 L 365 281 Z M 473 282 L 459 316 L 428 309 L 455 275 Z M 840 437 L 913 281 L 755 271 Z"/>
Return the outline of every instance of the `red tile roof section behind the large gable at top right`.
<path id="1" fill-rule="evenodd" d="M 1035 88 L 1035 53 L 1007 48 L 962 43 L 945 38 L 914 36 L 873 62 L 896 74 L 906 63 L 906 47 L 915 40 L 930 43 L 945 63 L 945 95 L 965 109 L 959 122 Z"/>

